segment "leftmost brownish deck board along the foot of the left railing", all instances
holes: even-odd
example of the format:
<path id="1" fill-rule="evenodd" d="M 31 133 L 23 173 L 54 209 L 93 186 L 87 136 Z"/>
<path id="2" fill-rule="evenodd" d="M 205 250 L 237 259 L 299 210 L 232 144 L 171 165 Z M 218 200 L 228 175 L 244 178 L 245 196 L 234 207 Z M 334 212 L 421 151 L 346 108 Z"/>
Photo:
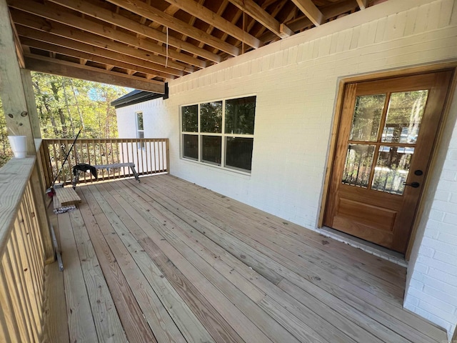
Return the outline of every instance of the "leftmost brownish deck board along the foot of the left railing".
<path id="1" fill-rule="evenodd" d="M 57 262 L 46 265 L 45 280 L 43 342 L 70 342 L 64 274 Z"/>

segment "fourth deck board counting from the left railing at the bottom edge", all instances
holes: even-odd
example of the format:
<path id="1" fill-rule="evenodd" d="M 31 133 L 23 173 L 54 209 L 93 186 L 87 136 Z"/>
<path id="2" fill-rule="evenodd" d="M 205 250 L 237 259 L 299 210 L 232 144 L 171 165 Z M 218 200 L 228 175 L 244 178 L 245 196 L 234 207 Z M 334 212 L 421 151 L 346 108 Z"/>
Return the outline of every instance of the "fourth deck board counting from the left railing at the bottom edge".
<path id="1" fill-rule="evenodd" d="M 97 259 L 99 259 L 101 270 L 109 286 L 127 339 L 131 343 L 156 343 L 156 338 L 146 322 L 143 312 L 141 312 L 141 308 L 138 302 L 136 302 L 134 293 L 130 289 L 126 277 L 122 274 L 119 264 L 116 262 L 116 258 L 103 238 L 103 234 L 101 234 L 99 225 L 91 209 L 89 209 L 86 198 L 82 194 L 81 197 L 83 203 L 79 207 L 79 211 L 84 218 L 84 224 L 87 227 Z"/>

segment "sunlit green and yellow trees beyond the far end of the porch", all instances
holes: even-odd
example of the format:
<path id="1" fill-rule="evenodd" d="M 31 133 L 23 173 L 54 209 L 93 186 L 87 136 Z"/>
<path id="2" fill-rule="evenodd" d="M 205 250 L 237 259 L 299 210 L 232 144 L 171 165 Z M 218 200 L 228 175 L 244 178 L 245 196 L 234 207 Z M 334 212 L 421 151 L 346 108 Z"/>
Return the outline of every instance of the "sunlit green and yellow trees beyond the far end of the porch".
<path id="1" fill-rule="evenodd" d="M 131 91 L 63 76 L 31 73 L 43 138 L 116 138 L 116 111 L 111 101 Z M 0 166 L 11 159 L 6 120 L 0 101 Z"/>

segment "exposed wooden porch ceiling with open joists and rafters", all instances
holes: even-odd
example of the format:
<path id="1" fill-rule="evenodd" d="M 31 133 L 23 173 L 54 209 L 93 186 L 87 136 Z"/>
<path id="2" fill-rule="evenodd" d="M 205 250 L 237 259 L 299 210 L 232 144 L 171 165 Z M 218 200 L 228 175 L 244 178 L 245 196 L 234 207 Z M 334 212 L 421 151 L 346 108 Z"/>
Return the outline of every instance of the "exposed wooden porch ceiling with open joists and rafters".
<path id="1" fill-rule="evenodd" d="M 382 0 L 6 0 L 19 63 L 164 92 L 164 82 Z"/>

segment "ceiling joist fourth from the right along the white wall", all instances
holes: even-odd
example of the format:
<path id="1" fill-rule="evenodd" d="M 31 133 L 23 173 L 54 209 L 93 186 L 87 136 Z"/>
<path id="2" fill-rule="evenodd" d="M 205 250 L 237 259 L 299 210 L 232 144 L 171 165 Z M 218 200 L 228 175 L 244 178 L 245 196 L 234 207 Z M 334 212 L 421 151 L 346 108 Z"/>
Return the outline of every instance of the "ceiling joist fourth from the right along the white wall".
<path id="1" fill-rule="evenodd" d="M 69 1 L 69 0 L 67 0 Z M 169 4 L 178 6 L 180 9 L 186 11 L 187 13 L 199 18 L 206 23 L 220 29 L 221 31 L 229 34 L 230 36 L 243 41 L 243 43 L 252 46 L 253 48 L 258 48 L 261 46 L 261 41 L 256 39 L 256 37 L 248 34 L 248 32 L 240 29 L 238 26 L 232 24 L 230 21 L 222 18 L 213 11 L 207 9 L 202 4 L 197 3 L 194 0 L 165 0 Z"/>

